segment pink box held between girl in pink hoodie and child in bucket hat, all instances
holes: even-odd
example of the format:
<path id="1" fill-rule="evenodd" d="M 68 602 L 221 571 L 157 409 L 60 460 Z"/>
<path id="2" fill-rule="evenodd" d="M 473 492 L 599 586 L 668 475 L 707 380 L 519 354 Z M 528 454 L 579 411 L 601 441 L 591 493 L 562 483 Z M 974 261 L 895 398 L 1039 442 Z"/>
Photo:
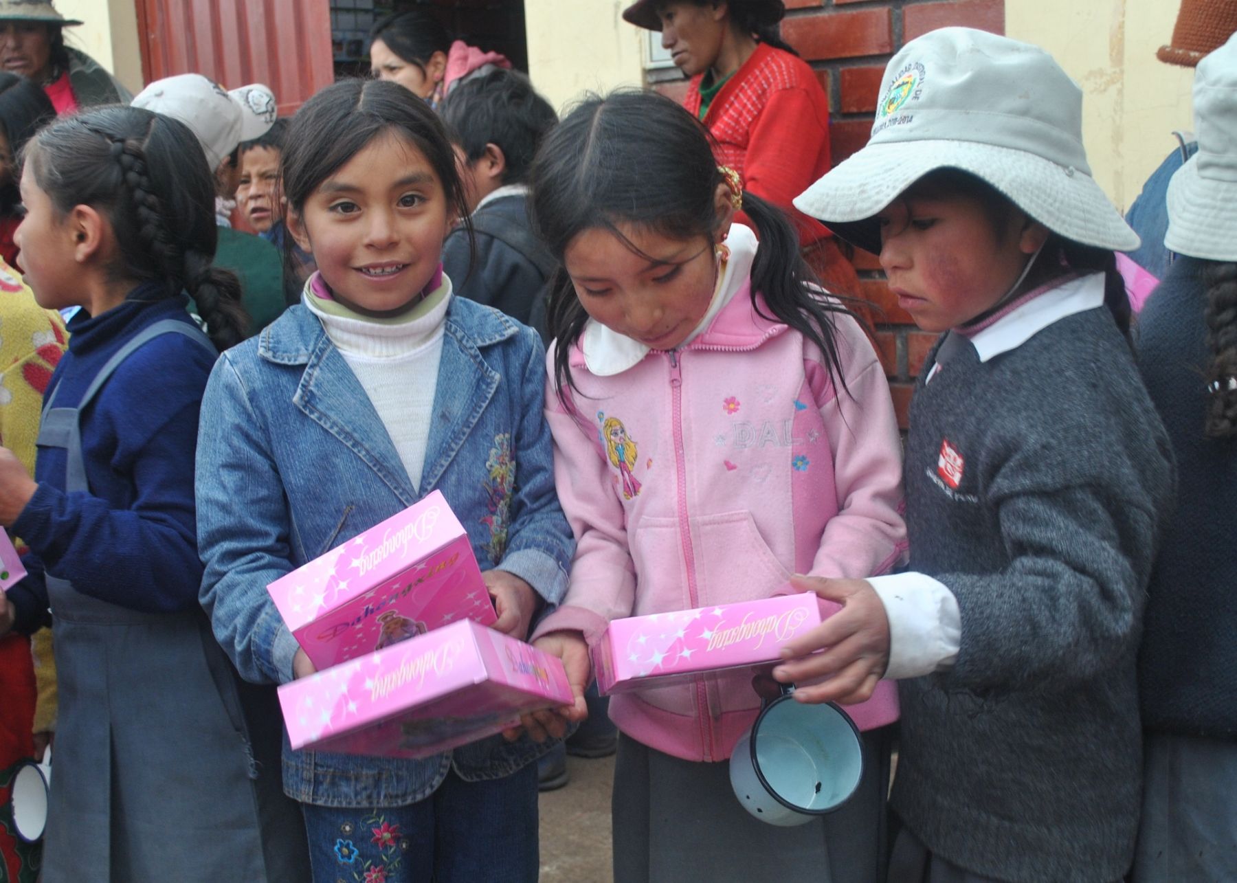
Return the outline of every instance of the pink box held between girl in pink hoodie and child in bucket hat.
<path id="1" fill-rule="evenodd" d="M 688 681 L 701 672 L 778 662 L 820 625 L 813 594 L 615 620 L 591 648 L 602 695 Z"/>

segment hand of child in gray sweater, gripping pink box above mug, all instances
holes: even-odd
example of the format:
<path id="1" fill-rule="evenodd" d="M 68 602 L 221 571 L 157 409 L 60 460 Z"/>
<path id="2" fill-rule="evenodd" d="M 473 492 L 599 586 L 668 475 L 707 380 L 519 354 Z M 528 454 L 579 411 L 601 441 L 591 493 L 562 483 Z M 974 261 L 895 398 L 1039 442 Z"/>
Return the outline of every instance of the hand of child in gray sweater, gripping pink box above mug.
<path id="1" fill-rule="evenodd" d="M 876 590 L 867 580 L 818 576 L 793 576 L 790 585 L 836 601 L 842 608 L 783 647 L 782 658 L 788 662 L 773 669 L 773 676 L 783 684 L 797 684 L 794 697 L 802 702 L 865 701 L 889 664 L 889 620 Z M 824 653 L 815 653 L 820 649 Z M 803 685 L 818 678 L 828 680 Z"/>

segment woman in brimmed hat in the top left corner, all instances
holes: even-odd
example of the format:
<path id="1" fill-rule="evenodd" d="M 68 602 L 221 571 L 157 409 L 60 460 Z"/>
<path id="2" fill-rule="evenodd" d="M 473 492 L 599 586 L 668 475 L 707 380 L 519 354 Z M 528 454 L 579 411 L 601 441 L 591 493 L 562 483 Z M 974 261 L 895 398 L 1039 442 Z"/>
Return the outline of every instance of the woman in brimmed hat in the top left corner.
<path id="1" fill-rule="evenodd" d="M 80 23 L 52 0 L 0 0 L 0 68 L 38 83 L 57 114 L 132 99 L 96 61 L 64 45 L 64 28 Z"/>

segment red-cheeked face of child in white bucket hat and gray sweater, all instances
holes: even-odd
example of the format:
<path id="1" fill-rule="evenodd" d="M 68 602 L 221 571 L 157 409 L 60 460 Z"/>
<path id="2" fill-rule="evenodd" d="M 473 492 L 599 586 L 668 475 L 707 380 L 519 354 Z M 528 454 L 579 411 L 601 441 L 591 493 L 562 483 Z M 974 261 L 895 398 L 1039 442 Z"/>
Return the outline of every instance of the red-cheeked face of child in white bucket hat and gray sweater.
<path id="1" fill-rule="evenodd" d="M 889 291 L 925 331 L 995 307 L 1048 236 L 1012 204 L 997 213 L 975 197 L 914 187 L 877 219 Z"/>

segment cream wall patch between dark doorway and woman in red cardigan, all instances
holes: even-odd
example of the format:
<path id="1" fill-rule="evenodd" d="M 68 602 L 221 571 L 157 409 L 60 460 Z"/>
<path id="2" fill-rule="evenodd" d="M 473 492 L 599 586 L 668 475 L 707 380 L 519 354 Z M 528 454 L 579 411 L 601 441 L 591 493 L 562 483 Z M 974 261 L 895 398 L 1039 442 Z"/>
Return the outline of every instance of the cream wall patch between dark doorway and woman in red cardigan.
<path id="1" fill-rule="evenodd" d="M 625 22 L 631 0 L 524 0 L 528 73 L 562 110 L 581 93 L 643 82 L 641 40 Z"/>

